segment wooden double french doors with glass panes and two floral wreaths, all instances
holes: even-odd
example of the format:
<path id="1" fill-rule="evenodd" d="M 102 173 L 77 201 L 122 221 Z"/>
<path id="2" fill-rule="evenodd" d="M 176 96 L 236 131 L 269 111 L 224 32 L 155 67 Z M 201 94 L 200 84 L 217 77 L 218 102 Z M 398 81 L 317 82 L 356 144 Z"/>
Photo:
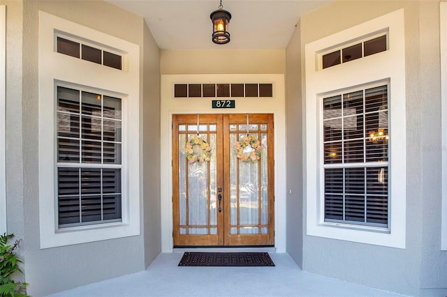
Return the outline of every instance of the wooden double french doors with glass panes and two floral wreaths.
<path id="1" fill-rule="evenodd" d="M 174 246 L 274 245 L 272 114 L 173 115 Z"/>

